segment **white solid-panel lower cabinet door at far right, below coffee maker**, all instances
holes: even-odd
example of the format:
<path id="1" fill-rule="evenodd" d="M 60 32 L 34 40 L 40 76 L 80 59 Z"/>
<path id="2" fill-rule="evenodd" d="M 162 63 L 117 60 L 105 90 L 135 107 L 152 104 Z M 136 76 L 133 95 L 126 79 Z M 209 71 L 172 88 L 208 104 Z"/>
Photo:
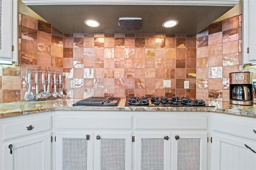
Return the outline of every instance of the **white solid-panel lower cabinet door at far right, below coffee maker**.
<path id="1" fill-rule="evenodd" d="M 256 151 L 256 141 L 213 132 L 212 170 L 256 170 L 253 150 Z"/>

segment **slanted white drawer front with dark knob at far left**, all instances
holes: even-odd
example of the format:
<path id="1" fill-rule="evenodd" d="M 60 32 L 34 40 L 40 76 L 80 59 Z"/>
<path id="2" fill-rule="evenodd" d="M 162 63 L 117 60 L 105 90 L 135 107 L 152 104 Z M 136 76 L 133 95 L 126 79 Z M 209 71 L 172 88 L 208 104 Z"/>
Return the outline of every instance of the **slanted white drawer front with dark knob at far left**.
<path id="1" fill-rule="evenodd" d="M 31 130 L 28 130 L 30 128 L 27 128 L 27 127 L 29 127 L 30 125 L 33 128 Z M 2 134 L 3 134 L 2 140 L 8 140 L 11 138 L 16 138 L 16 137 L 26 136 L 29 134 L 34 134 L 34 133 L 38 133 L 46 130 L 51 130 L 51 128 L 52 128 L 52 124 L 51 124 L 50 116 L 36 118 L 36 119 L 28 119 L 25 121 L 3 123 L 2 124 Z"/>

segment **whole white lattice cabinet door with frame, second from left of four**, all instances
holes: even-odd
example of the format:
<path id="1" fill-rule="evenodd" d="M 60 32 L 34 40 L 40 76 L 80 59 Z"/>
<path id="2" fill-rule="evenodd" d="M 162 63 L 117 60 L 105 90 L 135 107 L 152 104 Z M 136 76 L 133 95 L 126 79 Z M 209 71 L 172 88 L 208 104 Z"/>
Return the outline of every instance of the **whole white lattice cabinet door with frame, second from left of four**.
<path id="1" fill-rule="evenodd" d="M 132 132 L 94 132 L 94 169 L 131 170 Z"/>

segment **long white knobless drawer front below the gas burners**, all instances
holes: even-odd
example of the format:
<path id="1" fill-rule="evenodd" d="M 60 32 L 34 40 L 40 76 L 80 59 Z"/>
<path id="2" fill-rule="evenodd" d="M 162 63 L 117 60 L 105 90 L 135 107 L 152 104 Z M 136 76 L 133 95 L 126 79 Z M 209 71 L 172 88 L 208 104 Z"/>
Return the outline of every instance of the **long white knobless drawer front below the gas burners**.
<path id="1" fill-rule="evenodd" d="M 135 129 L 166 129 L 166 130 L 207 130 L 207 116 L 202 117 L 135 117 Z"/>

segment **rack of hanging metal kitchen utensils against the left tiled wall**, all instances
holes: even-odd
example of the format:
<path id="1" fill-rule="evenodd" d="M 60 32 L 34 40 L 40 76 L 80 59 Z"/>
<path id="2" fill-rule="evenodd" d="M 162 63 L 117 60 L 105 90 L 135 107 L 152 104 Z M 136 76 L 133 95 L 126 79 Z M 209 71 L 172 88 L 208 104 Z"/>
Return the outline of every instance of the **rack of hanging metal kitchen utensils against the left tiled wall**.
<path id="1" fill-rule="evenodd" d="M 63 99 L 63 71 L 26 69 L 26 101 Z"/>

